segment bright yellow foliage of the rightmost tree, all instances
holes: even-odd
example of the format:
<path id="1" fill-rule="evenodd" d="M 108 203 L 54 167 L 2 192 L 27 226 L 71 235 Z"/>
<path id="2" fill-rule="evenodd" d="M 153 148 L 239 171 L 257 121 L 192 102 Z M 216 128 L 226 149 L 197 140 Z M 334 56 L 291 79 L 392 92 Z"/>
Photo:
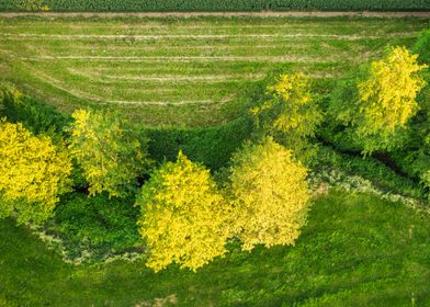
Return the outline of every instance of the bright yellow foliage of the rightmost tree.
<path id="1" fill-rule="evenodd" d="M 405 47 L 395 47 L 385 58 L 372 62 L 370 76 L 358 84 L 359 106 L 365 118 L 363 133 L 393 133 L 416 114 L 416 98 L 425 87 L 418 72 L 427 67 L 418 65 L 417 57 Z"/>

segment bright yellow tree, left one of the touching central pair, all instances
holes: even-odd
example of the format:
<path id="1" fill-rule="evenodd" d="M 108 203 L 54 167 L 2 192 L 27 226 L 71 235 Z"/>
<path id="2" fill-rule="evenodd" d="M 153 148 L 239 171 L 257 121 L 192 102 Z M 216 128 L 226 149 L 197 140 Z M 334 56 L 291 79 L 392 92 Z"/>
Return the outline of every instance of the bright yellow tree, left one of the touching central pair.
<path id="1" fill-rule="evenodd" d="M 147 266 L 156 272 L 172 262 L 195 271 L 226 252 L 229 229 L 223 196 L 210 171 L 182 152 L 151 174 L 136 205 L 149 250 Z"/>

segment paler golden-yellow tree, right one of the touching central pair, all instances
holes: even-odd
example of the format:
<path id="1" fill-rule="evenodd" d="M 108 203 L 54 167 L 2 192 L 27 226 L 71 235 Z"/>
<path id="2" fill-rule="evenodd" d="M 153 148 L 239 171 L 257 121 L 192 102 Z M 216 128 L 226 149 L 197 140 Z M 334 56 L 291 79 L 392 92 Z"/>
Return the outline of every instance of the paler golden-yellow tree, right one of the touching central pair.
<path id="1" fill-rule="evenodd" d="M 292 150 L 270 137 L 261 144 L 247 143 L 233 156 L 233 220 L 244 250 L 294 245 L 307 217 L 306 174 Z"/>

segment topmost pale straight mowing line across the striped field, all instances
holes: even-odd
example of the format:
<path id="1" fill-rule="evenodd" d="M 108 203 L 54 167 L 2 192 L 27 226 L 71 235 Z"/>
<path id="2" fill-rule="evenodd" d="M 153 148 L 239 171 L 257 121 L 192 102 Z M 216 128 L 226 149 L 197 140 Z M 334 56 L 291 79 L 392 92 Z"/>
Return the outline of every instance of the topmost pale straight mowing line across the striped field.
<path id="1" fill-rule="evenodd" d="M 60 34 L 29 34 L 29 33 L 1 33 L 1 36 L 10 36 L 15 38 L 24 37 L 24 38 L 55 38 L 55 39 L 77 39 L 77 38 L 86 38 L 86 39 L 170 39 L 170 38 L 193 38 L 193 39 L 206 39 L 206 38 L 296 38 L 296 37 L 316 37 L 316 38 L 335 38 L 335 39 L 344 39 L 344 41 L 357 41 L 357 39 L 376 39 L 376 38 L 389 38 L 389 37 L 403 37 L 403 36 L 416 36 L 417 32 L 410 33 L 400 33 L 400 34 L 386 34 L 386 35 L 336 35 L 336 34 L 213 34 L 213 35 L 83 35 L 83 34 L 73 34 L 73 35 L 60 35 Z"/>

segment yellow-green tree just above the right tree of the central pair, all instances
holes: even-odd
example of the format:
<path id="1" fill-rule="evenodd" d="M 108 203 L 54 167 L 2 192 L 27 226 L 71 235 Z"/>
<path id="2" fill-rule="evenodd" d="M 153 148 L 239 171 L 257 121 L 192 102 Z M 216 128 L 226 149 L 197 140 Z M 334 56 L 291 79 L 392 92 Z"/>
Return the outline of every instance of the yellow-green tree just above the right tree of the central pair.
<path id="1" fill-rule="evenodd" d="M 303 75 L 281 75 L 268 86 L 267 94 L 269 99 L 251 110 L 258 132 L 293 148 L 297 158 L 306 160 L 312 156 L 308 139 L 322 121 L 309 80 Z"/>

